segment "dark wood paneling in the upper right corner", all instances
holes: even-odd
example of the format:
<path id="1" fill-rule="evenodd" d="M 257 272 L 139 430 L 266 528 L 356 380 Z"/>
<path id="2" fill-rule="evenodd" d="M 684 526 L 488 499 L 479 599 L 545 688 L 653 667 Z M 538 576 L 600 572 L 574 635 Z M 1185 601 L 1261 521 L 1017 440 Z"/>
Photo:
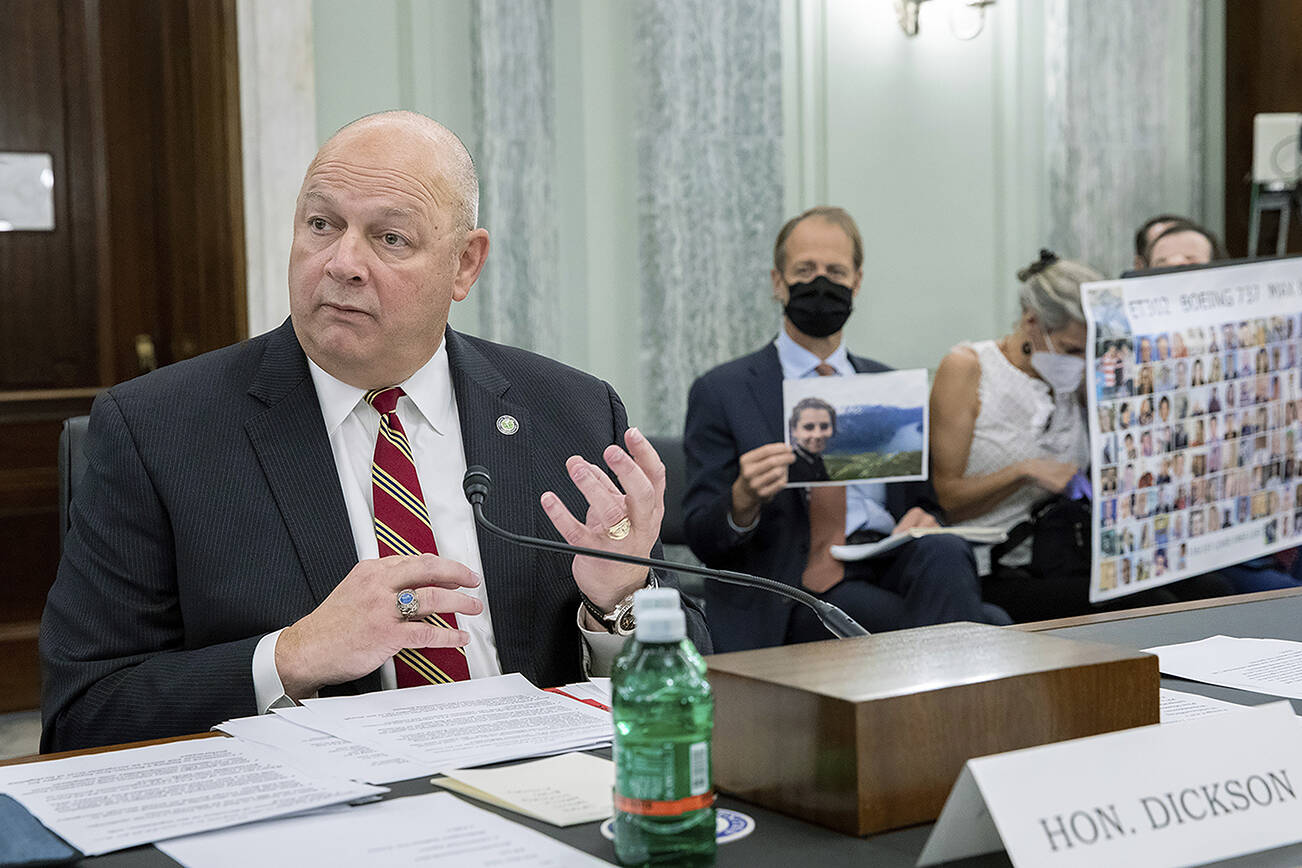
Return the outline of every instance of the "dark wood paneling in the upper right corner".
<path id="1" fill-rule="evenodd" d="M 1246 256 L 1253 116 L 1302 112 L 1302 3 L 1233 0 L 1225 4 L 1225 243 Z M 1262 219 L 1262 255 L 1275 252 L 1277 220 Z M 1289 252 L 1302 251 L 1302 220 L 1293 212 Z"/>

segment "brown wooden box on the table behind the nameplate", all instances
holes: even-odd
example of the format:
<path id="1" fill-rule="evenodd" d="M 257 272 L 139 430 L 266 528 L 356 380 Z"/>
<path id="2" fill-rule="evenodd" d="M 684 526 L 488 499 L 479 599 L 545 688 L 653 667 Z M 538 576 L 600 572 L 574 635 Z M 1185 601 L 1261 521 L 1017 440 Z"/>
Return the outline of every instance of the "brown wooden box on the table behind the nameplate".
<path id="1" fill-rule="evenodd" d="M 935 820 L 974 756 L 1159 720 L 1155 656 L 978 623 L 706 660 L 716 786 L 854 835 Z"/>

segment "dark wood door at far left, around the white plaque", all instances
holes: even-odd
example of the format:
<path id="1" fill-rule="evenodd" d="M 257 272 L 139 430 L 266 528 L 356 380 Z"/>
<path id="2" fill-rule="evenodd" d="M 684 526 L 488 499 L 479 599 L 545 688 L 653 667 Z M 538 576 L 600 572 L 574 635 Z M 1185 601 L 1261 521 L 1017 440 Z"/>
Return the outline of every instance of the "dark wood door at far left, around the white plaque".
<path id="1" fill-rule="evenodd" d="M 89 34 L 73 4 L 0 17 L 0 150 L 52 155 L 55 230 L 0 233 L 0 711 L 39 701 L 36 630 L 59 557 L 56 444 L 90 407 L 99 247 Z"/>

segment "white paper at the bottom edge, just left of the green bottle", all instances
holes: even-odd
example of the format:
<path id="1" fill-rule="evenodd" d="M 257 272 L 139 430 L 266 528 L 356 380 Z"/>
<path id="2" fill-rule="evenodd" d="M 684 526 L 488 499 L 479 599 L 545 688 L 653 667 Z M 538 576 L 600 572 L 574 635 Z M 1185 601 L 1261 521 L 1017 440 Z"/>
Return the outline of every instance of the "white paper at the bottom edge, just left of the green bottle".
<path id="1" fill-rule="evenodd" d="M 447 793 L 165 841 L 159 850 L 186 868 L 609 864 Z"/>

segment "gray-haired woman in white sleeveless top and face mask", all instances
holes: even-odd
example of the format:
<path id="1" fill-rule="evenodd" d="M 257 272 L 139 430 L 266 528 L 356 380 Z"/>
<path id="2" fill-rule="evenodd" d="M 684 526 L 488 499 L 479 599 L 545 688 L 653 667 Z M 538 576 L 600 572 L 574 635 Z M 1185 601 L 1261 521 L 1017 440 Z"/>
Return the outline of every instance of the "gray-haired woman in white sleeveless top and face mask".
<path id="1" fill-rule="evenodd" d="M 931 479 L 958 527 L 1010 531 L 1030 519 L 1034 505 L 1066 489 L 1088 463 L 1081 284 L 1103 276 L 1042 250 L 1017 277 L 1022 315 L 1013 331 L 995 341 L 956 346 L 941 360 L 931 389 Z M 1025 571 L 1030 560 L 1027 540 L 1004 556 L 991 578 L 988 552 L 978 550 L 978 565 L 988 576 L 987 599 L 1008 606 L 1014 621 L 1075 614 L 1087 604 L 1079 570 L 1072 579 L 1064 576 L 1070 584 L 1065 588 L 1030 574 L 1026 580 L 1004 580 L 1008 571 Z"/>

